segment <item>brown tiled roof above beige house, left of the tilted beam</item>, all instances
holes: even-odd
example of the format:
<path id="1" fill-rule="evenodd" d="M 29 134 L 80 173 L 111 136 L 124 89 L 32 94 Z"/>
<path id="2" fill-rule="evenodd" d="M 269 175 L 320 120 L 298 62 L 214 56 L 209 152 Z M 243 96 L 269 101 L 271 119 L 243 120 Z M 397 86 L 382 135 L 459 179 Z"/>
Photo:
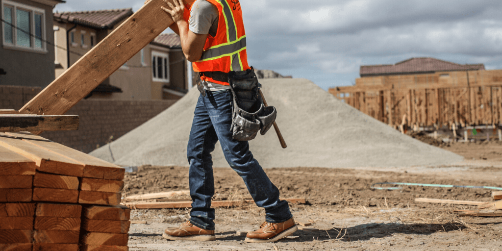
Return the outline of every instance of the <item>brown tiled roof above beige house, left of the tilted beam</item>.
<path id="1" fill-rule="evenodd" d="M 54 20 L 88 26 L 95 29 L 111 29 L 120 21 L 133 15 L 133 9 L 116 9 L 84 12 L 54 13 Z"/>

